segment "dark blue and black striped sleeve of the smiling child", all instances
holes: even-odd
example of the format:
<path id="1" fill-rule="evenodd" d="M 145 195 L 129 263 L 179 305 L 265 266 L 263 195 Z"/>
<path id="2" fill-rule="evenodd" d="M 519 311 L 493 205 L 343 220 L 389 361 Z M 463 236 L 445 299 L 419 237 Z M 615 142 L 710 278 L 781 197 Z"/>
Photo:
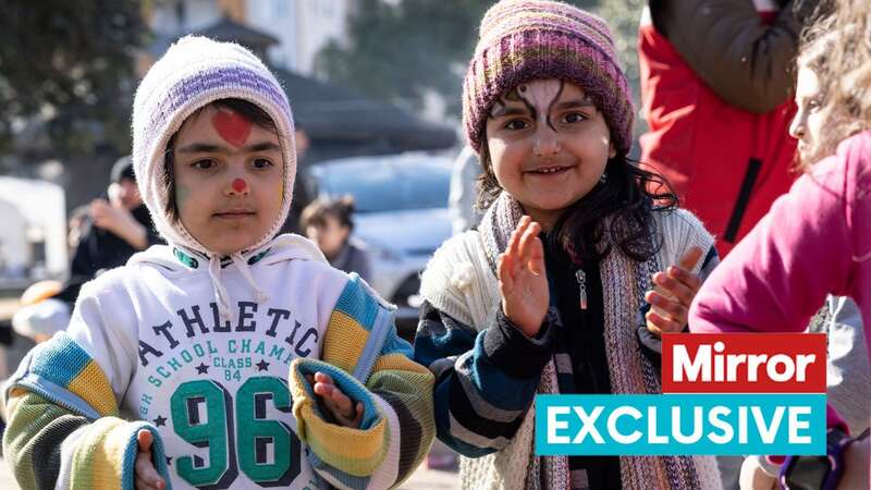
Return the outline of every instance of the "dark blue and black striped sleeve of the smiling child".
<path id="1" fill-rule="evenodd" d="M 508 444 L 551 358 L 555 321 L 549 313 L 539 336 L 529 339 L 500 311 L 493 326 L 477 332 L 424 303 L 415 360 L 436 376 L 436 430 L 442 442 L 469 457 Z"/>

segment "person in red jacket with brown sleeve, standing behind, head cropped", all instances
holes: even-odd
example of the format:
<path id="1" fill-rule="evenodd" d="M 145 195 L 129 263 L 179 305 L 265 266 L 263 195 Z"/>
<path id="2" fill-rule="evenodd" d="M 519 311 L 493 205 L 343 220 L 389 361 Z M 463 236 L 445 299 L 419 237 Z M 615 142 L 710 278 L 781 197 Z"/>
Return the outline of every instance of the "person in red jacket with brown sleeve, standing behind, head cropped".
<path id="1" fill-rule="evenodd" d="M 800 3 L 800 4 L 799 4 Z M 638 54 L 649 131 L 642 167 L 664 174 L 725 257 L 786 193 L 796 140 L 794 59 L 817 0 L 649 0 Z"/>

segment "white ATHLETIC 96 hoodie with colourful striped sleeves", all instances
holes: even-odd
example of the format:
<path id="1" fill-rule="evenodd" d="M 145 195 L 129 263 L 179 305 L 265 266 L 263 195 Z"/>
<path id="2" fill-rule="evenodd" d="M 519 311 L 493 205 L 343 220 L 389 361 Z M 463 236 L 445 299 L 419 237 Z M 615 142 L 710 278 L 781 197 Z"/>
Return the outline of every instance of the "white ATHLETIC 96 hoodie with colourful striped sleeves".
<path id="1" fill-rule="evenodd" d="M 305 238 L 242 257 L 218 278 L 229 319 L 208 259 L 169 246 L 83 287 L 68 332 L 8 387 L 4 454 L 24 488 L 133 488 L 143 428 L 175 489 L 389 488 L 409 475 L 433 437 L 432 377 L 390 308 Z M 315 370 L 364 402 L 360 429 L 326 420 L 303 377 Z"/>

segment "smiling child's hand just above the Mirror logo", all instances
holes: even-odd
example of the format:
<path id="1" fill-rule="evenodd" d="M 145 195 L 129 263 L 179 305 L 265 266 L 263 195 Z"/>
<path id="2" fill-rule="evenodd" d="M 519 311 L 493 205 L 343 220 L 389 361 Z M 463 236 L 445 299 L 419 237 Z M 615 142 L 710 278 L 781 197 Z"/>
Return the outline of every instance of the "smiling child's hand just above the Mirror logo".
<path id="1" fill-rule="evenodd" d="M 691 273 L 701 258 L 701 248 L 692 247 L 676 266 L 653 274 L 653 291 L 645 293 L 652 308 L 645 315 L 647 328 L 657 335 L 679 332 L 687 324 L 689 305 L 701 287 L 701 279 Z"/>

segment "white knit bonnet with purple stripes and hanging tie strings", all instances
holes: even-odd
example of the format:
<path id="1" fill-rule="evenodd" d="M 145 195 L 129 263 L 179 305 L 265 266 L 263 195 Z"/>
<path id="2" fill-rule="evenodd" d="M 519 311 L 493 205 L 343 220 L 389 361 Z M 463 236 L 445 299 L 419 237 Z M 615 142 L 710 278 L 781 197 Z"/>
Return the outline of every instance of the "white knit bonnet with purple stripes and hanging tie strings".
<path id="1" fill-rule="evenodd" d="M 281 212 L 269 231 L 247 250 L 231 254 L 257 303 L 269 296 L 254 280 L 246 257 L 272 240 L 281 230 L 293 198 L 296 149 L 291 106 L 281 85 L 250 51 L 232 42 L 188 36 L 172 45 L 151 66 L 136 89 L 133 101 L 133 169 L 145 205 L 157 231 L 170 246 L 205 254 L 223 319 L 233 317 L 231 299 L 221 280 L 221 257 L 199 243 L 182 224 L 167 215 L 169 188 L 163 179 L 167 144 L 185 120 L 219 99 L 247 100 L 275 123 L 282 159 L 284 186 Z"/>

